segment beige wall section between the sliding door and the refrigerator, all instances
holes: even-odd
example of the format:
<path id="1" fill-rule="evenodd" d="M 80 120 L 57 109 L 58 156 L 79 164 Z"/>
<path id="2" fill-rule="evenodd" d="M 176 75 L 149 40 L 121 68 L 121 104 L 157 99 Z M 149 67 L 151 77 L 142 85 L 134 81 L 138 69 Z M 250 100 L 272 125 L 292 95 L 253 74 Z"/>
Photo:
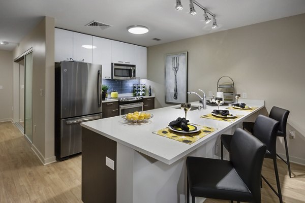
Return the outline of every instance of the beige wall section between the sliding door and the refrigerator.
<path id="1" fill-rule="evenodd" d="M 48 163 L 55 160 L 53 18 L 45 17 L 28 33 L 14 49 L 13 57 L 16 58 L 31 48 L 33 48 L 33 149 L 43 163 Z M 44 91 L 43 96 L 40 95 L 40 89 Z"/>

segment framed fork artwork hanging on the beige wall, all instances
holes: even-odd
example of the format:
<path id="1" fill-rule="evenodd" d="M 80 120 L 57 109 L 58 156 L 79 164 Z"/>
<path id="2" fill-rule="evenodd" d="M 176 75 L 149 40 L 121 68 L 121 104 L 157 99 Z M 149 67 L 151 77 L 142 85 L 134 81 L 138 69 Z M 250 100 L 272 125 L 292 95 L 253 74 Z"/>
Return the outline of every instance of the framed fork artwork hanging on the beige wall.
<path id="1" fill-rule="evenodd" d="M 188 103 L 188 52 L 165 55 L 165 103 Z"/>

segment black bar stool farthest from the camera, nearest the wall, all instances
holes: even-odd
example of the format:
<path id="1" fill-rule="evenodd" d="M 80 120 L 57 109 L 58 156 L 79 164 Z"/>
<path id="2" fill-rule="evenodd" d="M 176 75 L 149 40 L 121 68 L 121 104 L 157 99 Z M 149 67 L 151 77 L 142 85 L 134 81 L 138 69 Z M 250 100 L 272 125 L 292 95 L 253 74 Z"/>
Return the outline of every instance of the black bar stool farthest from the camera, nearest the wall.
<path id="1" fill-rule="evenodd" d="M 287 136 L 286 136 L 286 126 L 287 126 L 287 119 L 288 119 L 289 111 L 286 109 L 282 109 L 279 107 L 272 107 L 269 118 L 273 118 L 280 122 L 279 130 L 278 130 L 278 137 L 284 137 L 285 143 L 285 151 L 286 151 L 286 160 L 284 160 L 279 154 L 277 156 L 282 159 L 288 165 L 288 172 L 289 177 L 291 178 L 291 169 L 290 169 L 290 161 L 289 161 L 289 154 L 288 154 L 288 146 L 287 146 Z M 248 130 L 249 132 L 253 131 L 253 122 L 242 122 L 243 129 Z"/>

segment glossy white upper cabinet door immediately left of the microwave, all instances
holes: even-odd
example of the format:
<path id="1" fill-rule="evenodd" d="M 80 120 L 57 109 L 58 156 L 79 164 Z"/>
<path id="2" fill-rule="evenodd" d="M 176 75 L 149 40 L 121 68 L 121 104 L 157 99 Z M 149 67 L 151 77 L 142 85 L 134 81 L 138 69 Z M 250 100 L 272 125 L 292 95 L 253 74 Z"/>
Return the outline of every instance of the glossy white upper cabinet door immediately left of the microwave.
<path id="1" fill-rule="evenodd" d="M 101 64 L 102 78 L 111 79 L 111 40 L 93 36 L 92 63 Z"/>

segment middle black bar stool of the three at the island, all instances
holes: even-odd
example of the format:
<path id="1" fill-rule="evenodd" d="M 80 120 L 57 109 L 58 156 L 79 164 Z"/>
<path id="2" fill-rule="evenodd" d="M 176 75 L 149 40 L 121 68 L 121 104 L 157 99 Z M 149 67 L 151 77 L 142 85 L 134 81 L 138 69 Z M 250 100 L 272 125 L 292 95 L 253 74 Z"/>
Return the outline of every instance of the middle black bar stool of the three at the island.
<path id="1" fill-rule="evenodd" d="M 283 197 L 282 197 L 282 191 L 280 185 L 280 178 L 279 178 L 278 165 L 277 165 L 277 153 L 276 153 L 277 133 L 278 133 L 279 125 L 280 122 L 276 121 L 275 119 L 263 115 L 258 115 L 253 126 L 252 134 L 267 146 L 265 158 L 270 158 L 273 160 L 278 191 L 276 191 L 263 176 L 262 179 L 268 184 L 268 186 L 272 189 L 272 191 L 276 193 L 276 195 L 280 199 L 280 202 L 282 203 Z M 220 138 L 222 142 L 221 147 L 223 148 L 224 146 L 230 152 L 230 154 L 232 148 L 228 144 L 231 143 L 231 140 L 233 138 L 234 136 L 231 136 L 229 134 L 222 134 Z M 223 159 L 223 149 L 221 153 L 221 158 Z"/>

